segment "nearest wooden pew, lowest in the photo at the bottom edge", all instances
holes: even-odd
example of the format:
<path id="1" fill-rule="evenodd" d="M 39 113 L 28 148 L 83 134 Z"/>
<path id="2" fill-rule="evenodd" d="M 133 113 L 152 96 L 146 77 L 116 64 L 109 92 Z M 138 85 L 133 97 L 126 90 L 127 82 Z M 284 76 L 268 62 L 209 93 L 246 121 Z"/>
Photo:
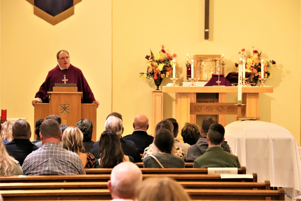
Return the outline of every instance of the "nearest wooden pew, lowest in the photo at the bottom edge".
<path id="1" fill-rule="evenodd" d="M 185 189 L 192 200 L 284 200 L 284 190 Z M 110 200 L 109 190 L 0 190 L 4 200 Z"/>

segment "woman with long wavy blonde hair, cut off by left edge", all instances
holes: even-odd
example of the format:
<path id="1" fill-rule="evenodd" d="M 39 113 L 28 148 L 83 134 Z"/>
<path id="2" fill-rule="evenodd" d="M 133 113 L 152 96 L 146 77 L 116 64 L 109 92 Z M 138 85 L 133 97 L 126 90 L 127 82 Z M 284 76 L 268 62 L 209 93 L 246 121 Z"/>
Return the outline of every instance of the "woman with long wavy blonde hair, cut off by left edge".
<path id="1" fill-rule="evenodd" d="M 0 176 L 23 175 L 20 163 L 8 155 L 2 138 L 0 139 Z"/>

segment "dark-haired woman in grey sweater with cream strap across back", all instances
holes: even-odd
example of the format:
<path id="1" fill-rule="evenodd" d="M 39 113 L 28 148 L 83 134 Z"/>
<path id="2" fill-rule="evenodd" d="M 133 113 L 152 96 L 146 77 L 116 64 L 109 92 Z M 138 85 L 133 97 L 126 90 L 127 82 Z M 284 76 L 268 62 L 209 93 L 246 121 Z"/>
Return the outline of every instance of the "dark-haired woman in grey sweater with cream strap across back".
<path id="1" fill-rule="evenodd" d="M 148 155 L 144 158 L 144 168 L 185 168 L 184 159 L 171 153 L 174 139 L 169 130 L 159 130 L 154 143 L 159 151 L 154 155 Z"/>

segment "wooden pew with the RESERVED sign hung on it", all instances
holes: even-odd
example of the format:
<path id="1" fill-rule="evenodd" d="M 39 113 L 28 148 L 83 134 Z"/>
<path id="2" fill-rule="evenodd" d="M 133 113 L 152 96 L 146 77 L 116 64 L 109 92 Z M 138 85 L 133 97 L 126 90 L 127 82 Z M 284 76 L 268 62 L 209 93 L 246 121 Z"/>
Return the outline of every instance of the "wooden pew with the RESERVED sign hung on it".
<path id="1" fill-rule="evenodd" d="M 113 168 L 85 168 L 86 174 L 111 174 Z M 208 174 L 207 168 L 141 168 L 142 174 Z M 237 174 L 246 174 L 246 167 Z"/>

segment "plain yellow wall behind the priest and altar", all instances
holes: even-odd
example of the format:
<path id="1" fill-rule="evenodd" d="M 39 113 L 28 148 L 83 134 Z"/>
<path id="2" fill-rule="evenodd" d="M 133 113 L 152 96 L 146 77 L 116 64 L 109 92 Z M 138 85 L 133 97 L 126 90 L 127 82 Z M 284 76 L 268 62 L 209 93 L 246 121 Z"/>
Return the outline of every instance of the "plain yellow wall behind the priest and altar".
<path id="1" fill-rule="evenodd" d="M 236 70 L 238 52 L 254 46 L 277 62 L 266 81 L 274 93 L 260 95 L 259 116 L 285 127 L 300 145 L 300 8 L 298 0 L 211 0 L 210 39 L 205 40 L 204 0 L 84 0 L 75 15 L 55 26 L 36 17 L 26 0 L 1 0 L 1 108 L 8 109 L 8 118 L 27 117 L 33 126 L 31 100 L 56 65 L 55 53 L 67 49 L 101 103 L 98 137 L 111 107 L 123 115 L 124 135 L 130 134 L 136 115 L 146 114 L 152 123 L 155 86 L 139 77 L 150 48 L 156 52 L 165 45 L 178 55 L 182 81 L 187 53 L 224 53 L 227 74 Z M 163 85 L 169 82 L 164 79 Z M 233 94 L 228 101 L 236 98 Z M 175 117 L 175 94 L 164 95 L 163 118 L 170 117 Z"/>

